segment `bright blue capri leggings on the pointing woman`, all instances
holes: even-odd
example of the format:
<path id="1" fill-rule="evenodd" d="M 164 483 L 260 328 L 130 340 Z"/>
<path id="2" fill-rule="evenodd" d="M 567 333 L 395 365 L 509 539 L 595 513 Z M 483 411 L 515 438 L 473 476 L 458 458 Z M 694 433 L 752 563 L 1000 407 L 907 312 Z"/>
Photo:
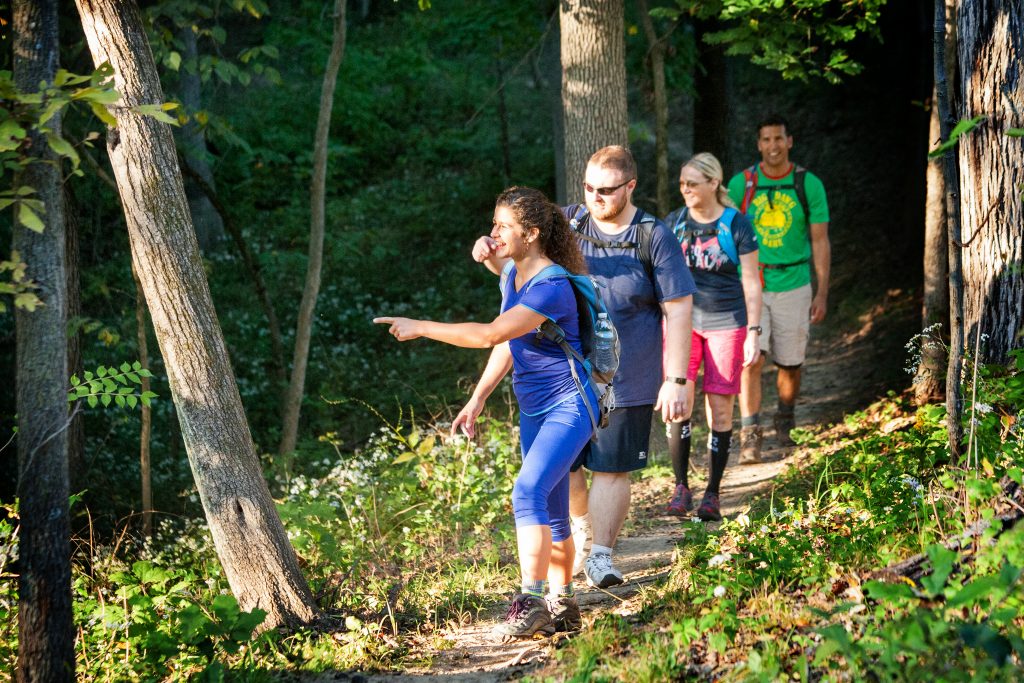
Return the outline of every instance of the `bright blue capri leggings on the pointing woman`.
<path id="1" fill-rule="evenodd" d="M 592 429 L 579 393 L 540 415 L 519 413 L 522 468 L 512 487 L 516 526 L 551 526 L 556 543 L 569 538 L 569 468 Z"/>

